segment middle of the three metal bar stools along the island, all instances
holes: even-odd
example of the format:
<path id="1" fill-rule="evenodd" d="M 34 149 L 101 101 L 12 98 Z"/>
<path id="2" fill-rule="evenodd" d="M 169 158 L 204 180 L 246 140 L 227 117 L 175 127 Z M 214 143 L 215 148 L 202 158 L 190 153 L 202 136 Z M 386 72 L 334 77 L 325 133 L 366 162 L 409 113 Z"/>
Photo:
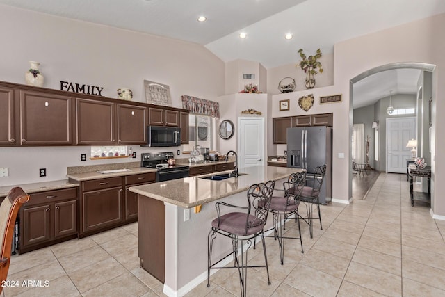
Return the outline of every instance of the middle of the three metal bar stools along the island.
<path id="1" fill-rule="evenodd" d="M 300 239 L 301 252 L 303 250 L 303 243 L 301 239 L 300 230 L 300 215 L 298 214 L 298 206 L 300 205 L 300 195 L 305 185 L 306 172 L 292 173 L 287 182 L 283 183 L 284 196 L 272 196 L 270 204 L 263 205 L 264 202 L 260 202 L 260 206 L 264 207 L 270 213 L 273 214 L 273 237 L 278 241 L 280 248 L 280 261 L 284 264 L 284 239 Z M 285 236 L 284 230 L 286 229 L 286 220 L 291 216 L 295 216 L 296 223 L 298 225 L 299 237 Z"/>

